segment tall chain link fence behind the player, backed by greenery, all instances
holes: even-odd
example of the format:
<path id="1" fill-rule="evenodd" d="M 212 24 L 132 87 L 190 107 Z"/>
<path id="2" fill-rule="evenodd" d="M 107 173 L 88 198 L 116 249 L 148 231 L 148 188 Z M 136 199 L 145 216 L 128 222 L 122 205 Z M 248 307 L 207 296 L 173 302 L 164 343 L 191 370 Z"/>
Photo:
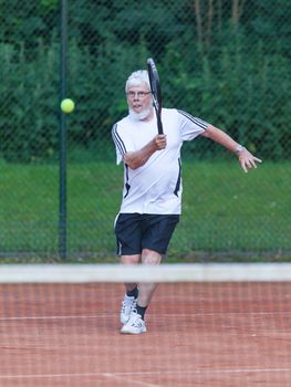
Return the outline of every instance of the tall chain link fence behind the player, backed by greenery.
<path id="1" fill-rule="evenodd" d="M 169 257 L 290 257 L 288 1 L 4 0 L 0 11 L 2 260 L 115 260 L 123 168 L 115 165 L 111 127 L 127 113 L 126 77 L 145 69 L 148 56 L 165 106 L 225 129 L 264 160 L 245 175 L 226 149 L 202 138 L 185 144 L 184 212 Z M 65 116 L 62 76 L 76 104 Z"/>

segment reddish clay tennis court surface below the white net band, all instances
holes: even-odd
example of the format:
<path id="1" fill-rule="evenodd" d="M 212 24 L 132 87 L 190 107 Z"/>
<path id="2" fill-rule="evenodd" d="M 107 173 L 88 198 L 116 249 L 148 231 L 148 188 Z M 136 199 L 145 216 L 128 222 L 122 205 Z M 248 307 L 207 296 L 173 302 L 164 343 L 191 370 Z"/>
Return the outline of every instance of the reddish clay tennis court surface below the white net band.
<path id="1" fill-rule="evenodd" d="M 291 283 L 160 284 L 135 336 L 123 291 L 0 285 L 0 386 L 290 386 Z"/>

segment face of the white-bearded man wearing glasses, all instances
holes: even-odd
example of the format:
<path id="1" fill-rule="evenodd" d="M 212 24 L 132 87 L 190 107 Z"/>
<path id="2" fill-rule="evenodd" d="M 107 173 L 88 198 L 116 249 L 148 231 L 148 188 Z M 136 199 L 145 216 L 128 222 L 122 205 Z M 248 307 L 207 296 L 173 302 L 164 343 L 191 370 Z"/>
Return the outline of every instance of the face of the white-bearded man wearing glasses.
<path id="1" fill-rule="evenodd" d="M 145 119 L 152 113 L 152 93 L 146 84 L 132 86 L 127 90 L 127 104 L 129 111 Z M 146 114 L 146 116 L 144 116 Z"/>

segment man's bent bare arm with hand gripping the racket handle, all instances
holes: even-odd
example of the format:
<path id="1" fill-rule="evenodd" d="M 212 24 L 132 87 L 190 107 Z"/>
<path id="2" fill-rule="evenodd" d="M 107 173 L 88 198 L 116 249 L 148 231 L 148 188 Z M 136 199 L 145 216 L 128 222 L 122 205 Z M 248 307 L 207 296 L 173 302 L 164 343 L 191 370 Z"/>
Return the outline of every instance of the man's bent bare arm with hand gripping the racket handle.
<path id="1" fill-rule="evenodd" d="M 156 135 L 142 149 L 128 151 L 123 156 L 123 161 L 131 169 L 137 169 L 146 164 L 149 157 L 157 150 L 162 150 L 167 146 L 166 135 Z"/>

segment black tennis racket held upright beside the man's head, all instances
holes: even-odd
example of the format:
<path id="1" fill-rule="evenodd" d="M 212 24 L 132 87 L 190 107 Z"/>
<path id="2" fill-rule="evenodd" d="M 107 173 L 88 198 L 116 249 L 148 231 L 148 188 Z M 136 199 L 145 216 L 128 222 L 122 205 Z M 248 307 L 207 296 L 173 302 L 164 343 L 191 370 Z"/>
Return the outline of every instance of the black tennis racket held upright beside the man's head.
<path id="1" fill-rule="evenodd" d="M 147 59 L 147 72 L 148 72 L 148 77 L 149 77 L 150 92 L 153 95 L 153 105 L 154 105 L 154 108 L 156 111 L 156 116 L 157 116 L 157 132 L 159 135 L 163 135 L 164 130 L 163 130 L 163 124 L 162 124 L 162 118 L 160 118 L 162 92 L 160 92 L 160 86 L 159 86 L 159 77 L 158 77 L 157 67 L 156 67 L 155 62 L 152 57 Z"/>

